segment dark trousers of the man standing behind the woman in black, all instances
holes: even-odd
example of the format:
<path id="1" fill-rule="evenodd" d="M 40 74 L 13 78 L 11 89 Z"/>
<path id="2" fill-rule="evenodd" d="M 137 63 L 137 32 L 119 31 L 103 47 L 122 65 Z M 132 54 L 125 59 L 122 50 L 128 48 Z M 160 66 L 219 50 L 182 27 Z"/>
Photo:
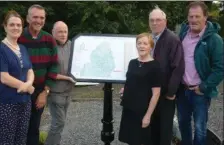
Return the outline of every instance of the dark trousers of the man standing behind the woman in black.
<path id="1" fill-rule="evenodd" d="M 175 100 L 160 97 L 151 119 L 153 145 L 171 145 Z"/>

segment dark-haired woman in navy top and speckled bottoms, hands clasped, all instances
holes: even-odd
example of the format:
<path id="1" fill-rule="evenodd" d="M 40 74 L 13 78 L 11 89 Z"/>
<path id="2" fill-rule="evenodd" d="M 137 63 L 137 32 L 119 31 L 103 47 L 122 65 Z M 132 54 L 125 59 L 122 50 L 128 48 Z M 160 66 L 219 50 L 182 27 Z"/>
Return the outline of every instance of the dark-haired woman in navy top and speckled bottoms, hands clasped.
<path id="1" fill-rule="evenodd" d="M 23 19 L 9 11 L 3 26 L 6 37 L 0 44 L 0 144 L 25 145 L 34 73 L 26 48 L 17 43 Z"/>

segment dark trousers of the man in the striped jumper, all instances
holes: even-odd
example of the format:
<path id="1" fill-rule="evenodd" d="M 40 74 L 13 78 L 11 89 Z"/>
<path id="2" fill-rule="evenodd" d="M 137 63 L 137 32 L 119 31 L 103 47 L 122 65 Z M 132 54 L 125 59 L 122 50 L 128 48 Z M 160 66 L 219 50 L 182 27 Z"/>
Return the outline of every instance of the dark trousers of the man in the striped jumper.
<path id="1" fill-rule="evenodd" d="M 36 108 L 36 100 L 38 95 L 42 92 L 42 89 L 35 89 L 35 92 L 31 96 L 32 108 L 31 108 L 31 117 L 29 130 L 27 134 L 27 143 L 26 145 L 39 145 L 39 127 L 41 115 L 43 113 L 44 107 L 41 109 Z"/>

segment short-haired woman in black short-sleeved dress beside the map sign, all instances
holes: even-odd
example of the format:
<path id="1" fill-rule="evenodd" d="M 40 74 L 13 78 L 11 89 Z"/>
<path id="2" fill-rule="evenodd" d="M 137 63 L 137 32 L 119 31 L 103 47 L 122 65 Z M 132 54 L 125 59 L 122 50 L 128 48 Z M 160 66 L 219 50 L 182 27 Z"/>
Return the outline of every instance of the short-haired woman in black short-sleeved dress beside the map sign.
<path id="1" fill-rule="evenodd" d="M 149 33 L 136 38 L 138 58 L 129 62 L 123 92 L 119 140 L 129 145 L 152 145 L 150 120 L 160 95 L 159 63 L 150 56 L 154 47 Z"/>

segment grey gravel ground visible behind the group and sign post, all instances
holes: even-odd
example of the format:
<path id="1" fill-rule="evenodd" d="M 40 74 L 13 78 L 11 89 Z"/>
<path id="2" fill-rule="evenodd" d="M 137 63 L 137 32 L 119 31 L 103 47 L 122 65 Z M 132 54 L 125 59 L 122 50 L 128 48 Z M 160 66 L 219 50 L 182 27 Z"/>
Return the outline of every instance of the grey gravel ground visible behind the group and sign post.
<path id="1" fill-rule="evenodd" d="M 119 101 L 113 102 L 115 139 L 111 145 L 125 145 L 117 140 L 121 107 Z M 102 145 L 100 133 L 103 116 L 103 101 L 72 102 L 68 111 L 66 126 L 61 145 Z M 41 130 L 47 130 L 50 115 L 47 110 L 43 115 Z M 212 100 L 209 111 L 209 128 L 223 139 L 223 96 Z"/>

